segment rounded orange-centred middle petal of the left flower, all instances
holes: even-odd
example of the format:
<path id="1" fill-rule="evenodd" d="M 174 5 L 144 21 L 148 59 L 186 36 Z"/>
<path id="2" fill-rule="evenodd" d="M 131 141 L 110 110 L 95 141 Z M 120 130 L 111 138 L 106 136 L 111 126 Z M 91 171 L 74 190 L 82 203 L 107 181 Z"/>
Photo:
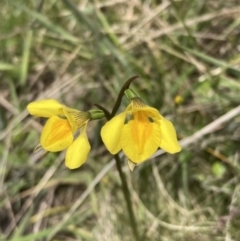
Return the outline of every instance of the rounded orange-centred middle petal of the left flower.
<path id="1" fill-rule="evenodd" d="M 47 151 L 62 151 L 73 142 L 73 132 L 68 120 L 50 117 L 42 130 L 40 144 Z"/>

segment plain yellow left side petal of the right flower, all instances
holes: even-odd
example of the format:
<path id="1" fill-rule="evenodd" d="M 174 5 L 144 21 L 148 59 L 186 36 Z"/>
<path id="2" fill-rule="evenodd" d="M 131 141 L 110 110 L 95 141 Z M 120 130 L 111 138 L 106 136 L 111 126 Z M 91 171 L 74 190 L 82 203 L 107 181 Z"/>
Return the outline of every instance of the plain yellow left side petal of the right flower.
<path id="1" fill-rule="evenodd" d="M 126 111 L 108 121 L 101 129 L 102 140 L 111 154 L 121 150 L 120 137 L 126 119 Z"/>

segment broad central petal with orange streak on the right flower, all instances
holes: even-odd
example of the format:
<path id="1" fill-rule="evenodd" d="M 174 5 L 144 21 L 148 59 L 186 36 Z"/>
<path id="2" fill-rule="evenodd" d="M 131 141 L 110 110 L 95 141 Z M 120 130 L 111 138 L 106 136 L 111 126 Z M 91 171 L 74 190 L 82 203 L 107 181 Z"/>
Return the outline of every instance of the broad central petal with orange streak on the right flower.
<path id="1" fill-rule="evenodd" d="M 148 159 L 161 143 L 159 122 L 150 121 L 145 114 L 141 111 L 134 113 L 134 119 L 122 128 L 121 147 L 134 163 Z"/>

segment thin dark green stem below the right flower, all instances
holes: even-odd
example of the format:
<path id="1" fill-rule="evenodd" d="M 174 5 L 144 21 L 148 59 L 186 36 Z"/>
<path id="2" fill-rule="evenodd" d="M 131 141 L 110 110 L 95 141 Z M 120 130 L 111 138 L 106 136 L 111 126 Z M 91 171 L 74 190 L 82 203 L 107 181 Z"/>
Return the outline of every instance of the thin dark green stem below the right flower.
<path id="1" fill-rule="evenodd" d="M 139 233 L 138 233 L 138 230 L 137 230 L 137 222 L 136 222 L 136 218 L 135 218 L 133 208 L 132 208 L 132 202 L 131 202 L 131 199 L 130 199 L 130 192 L 129 192 L 129 189 L 128 189 L 126 176 L 123 173 L 122 166 L 121 166 L 121 160 L 119 158 L 119 155 L 116 154 L 116 155 L 114 155 L 114 157 L 115 157 L 117 169 L 118 169 L 121 181 L 122 181 L 122 190 L 123 190 L 123 195 L 124 195 L 124 198 L 125 198 L 125 201 L 126 201 L 126 204 L 127 204 L 127 210 L 128 210 L 128 213 L 129 213 L 130 225 L 131 225 L 131 228 L 132 228 L 133 236 L 135 238 L 135 241 L 140 241 Z"/>

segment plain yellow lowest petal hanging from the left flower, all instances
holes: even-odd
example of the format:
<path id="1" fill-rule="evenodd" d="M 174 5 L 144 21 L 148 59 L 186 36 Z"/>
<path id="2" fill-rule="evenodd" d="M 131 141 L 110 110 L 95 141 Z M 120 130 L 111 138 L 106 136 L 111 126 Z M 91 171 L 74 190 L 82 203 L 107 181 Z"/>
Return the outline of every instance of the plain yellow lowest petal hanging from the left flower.
<path id="1" fill-rule="evenodd" d="M 79 137 L 67 149 L 65 165 L 70 169 L 80 167 L 87 160 L 90 149 L 85 125 Z"/>

